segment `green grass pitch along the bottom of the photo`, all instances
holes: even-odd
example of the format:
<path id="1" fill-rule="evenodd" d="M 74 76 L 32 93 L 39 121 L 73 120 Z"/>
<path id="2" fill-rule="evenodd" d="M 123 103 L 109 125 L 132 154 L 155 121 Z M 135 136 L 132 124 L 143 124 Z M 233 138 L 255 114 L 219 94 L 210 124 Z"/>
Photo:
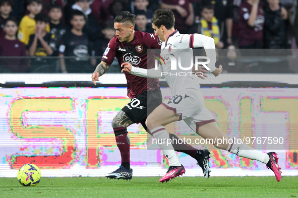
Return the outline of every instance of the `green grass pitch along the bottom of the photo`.
<path id="1" fill-rule="evenodd" d="M 0 197 L 298 197 L 298 177 L 42 177 L 37 186 L 22 186 L 17 178 L 0 178 Z"/>

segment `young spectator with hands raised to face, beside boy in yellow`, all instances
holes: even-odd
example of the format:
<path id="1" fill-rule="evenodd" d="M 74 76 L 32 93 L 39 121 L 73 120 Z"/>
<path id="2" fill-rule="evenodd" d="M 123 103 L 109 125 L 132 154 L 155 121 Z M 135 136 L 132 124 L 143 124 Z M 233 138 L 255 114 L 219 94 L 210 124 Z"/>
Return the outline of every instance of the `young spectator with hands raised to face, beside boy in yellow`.
<path id="1" fill-rule="evenodd" d="M 46 31 L 49 24 L 49 16 L 45 13 L 39 13 L 35 16 L 35 34 L 30 35 L 27 49 L 30 56 L 46 57 L 53 53 L 49 46 L 51 34 Z M 51 60 L 47 58 L 31 59 L 30 72 L 47 73 L 52 71 Z"/>

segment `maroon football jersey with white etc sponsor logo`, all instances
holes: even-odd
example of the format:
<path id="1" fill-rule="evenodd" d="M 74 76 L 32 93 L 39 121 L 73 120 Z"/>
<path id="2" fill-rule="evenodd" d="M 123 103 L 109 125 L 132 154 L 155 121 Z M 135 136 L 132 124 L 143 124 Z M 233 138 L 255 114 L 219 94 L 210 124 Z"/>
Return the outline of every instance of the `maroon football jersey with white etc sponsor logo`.
<path id="1" fill-rule="evenodd" d="M 113 37 L 102 56 L 102 61 L 108 65 L 117 58 L 121 67 L 123 62 L 129 62 L 134 67 L 147 69 L 147 49 L 160 49 L 162 41 L 154 34 L 135 31 L 135 37 L 131 42 L 120 42 Z M 149 68 L 148 68 L 149 69 Z M 159 89 L 158 79 L 148 79 L 124 72 L 127 79 L 127 95 L 131 99 L 142 94 L 146 90 Z"/>

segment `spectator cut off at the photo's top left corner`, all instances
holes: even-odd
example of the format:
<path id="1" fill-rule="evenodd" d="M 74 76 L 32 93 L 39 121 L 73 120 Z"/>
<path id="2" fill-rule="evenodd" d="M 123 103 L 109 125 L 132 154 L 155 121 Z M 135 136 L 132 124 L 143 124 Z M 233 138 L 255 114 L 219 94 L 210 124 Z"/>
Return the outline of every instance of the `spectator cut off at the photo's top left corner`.
<path id="1" fill-rule="evenodd" d="M 12 0 L 0 0 L 0 38 L 5 36 L 3 31 L 6 19 L 10 17 L 13 11 L 14 2 Z"/>

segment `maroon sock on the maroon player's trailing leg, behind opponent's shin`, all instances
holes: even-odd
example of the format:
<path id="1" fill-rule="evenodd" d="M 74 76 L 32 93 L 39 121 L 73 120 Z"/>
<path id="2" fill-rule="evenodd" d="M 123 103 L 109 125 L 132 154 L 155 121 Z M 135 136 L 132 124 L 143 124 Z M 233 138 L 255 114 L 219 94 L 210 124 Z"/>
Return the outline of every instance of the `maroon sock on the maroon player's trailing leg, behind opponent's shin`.
<path id="1" fill-rule="evenodd" d="M 198 149 L 192 147 L 191 145 L 184 143 L 183 140 L 178 141 L 180 138 L 178 138 L 174 134 L 169 133 L 169 138 L 172 140 L 172 145 L 175 151 L 177 152 L 183 152 L 193 158 L 196 158 L 196 154 Z M 174 141 L 173 141 L 174 140 Z M 182 143 L 182 144 L 179 144 Z"/>

